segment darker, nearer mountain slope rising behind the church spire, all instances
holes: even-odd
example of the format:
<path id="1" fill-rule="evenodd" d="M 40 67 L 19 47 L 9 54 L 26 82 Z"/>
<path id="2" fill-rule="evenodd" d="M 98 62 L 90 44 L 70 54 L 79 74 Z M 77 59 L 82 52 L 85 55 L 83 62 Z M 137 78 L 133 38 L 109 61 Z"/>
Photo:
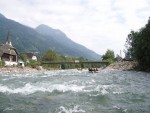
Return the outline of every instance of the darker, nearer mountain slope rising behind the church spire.
<path id="1" fill-rule="evenodd" d="M 0 16 L 0 43 L 5 43 L 10 31 L 13 46 L 19 51 L 44 52 L 48 43 L 33 28 Z"/>

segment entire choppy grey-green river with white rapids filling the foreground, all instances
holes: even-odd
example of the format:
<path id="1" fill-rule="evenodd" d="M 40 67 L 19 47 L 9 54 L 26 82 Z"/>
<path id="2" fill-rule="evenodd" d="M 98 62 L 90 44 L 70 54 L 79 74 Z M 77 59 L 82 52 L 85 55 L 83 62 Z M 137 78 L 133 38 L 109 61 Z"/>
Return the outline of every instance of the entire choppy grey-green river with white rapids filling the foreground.
<path id="1" fill-rule="evenodd" d="M 150 73 L 0 73 L 0 113 L 150 113 Z"/>

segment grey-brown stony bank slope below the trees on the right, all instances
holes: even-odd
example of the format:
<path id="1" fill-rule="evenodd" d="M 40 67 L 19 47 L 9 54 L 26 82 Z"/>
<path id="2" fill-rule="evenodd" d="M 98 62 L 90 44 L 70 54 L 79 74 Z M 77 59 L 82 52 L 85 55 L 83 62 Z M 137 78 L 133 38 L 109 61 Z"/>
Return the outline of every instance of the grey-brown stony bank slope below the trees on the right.
<path id="1" fill-rule="evenodd" d="M 109 65 L 106 68 L 127 71 L 127 70 L 134 70 L 136 66 L 137 66 L 136 61 L 119 61 Z"/>

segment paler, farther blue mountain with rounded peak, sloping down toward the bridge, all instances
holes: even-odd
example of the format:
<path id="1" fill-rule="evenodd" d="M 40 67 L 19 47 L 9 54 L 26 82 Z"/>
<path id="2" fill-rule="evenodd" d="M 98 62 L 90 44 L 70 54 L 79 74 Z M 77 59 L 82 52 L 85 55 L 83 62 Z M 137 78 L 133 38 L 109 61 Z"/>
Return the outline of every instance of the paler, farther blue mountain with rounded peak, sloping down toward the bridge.
<path id="1" fill-rule="evenodd" d="M 46 25 L 39 25 L 36 30 L 40 34 L 45 35 L 48 42 L 53 42 L 56 44 L 54 49 L 60 54 L 76 57 L 80 55 L 84 58 L 100 60 L 100 55 L 80 44 L 73 42 L 60 30 L 52 29 Z"/>

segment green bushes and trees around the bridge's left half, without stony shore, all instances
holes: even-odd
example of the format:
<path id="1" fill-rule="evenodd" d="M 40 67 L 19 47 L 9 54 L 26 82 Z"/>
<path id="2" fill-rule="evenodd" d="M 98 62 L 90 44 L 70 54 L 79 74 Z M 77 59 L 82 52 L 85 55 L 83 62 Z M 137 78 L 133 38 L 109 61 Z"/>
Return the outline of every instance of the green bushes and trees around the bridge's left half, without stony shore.
<path id="1" fill-rule="evenodd" d="M 71 56 L 62 56 L 56 53 L 54 50 L 47 50 L 41 58 L 38 58 L 38 61 L 34 61 L 32 59 L 28 59 L 26 54 L 21 54 L 20 58 L 23 60 L 26 66 L 37 68 L 38 66 L 42 66 L 45 69 L 59 69 L 60 64 L 43 64 L 42 62 L 75 62 L 78 60 L 80 62 L 88 61 L 83 57 L 71 57 Z M 29 62 L 27 62 L 30 60 Z M 84 68 L 88 67 L 87 64 L 63 64 L 61 65 L 62 69 L 72 69 L 72 68 Z"/>

